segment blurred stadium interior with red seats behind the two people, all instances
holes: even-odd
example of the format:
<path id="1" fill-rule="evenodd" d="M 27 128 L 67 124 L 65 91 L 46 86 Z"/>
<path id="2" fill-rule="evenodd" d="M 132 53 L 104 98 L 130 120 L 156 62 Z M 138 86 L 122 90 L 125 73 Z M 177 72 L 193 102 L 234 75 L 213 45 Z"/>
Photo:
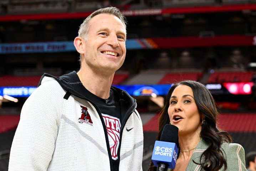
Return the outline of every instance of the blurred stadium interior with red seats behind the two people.
<path id="1" fill-rule="evenodd" d="M 256 150 L 256 0 L 0 0 L 0 171 L 8 170 L 21 107 L 41 75 L 79 69 L 78 28 L 110 5 L 128 21 L 126 60 L 113 85 L 137 99 L 143 170 L 164 96 L 180 80 L 205 84 L 219 127 L 245 153 Z"/>

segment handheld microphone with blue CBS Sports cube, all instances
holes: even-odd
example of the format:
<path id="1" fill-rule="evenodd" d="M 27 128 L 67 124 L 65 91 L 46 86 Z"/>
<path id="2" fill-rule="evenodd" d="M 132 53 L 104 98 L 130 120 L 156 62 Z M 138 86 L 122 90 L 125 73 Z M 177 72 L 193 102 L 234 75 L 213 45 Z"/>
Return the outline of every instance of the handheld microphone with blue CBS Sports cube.
<path id="1" fill-rule="evenodd" d="M 175 168 L 178 157 L 178 148 L 175 144 L 178 142 L 178 132 L 178 127 L 166 124 L 160 141 L 155 141 L 151 159 L 154 165 L 157 166 L 157 171 L 167 171 L 168 168 Z"/>

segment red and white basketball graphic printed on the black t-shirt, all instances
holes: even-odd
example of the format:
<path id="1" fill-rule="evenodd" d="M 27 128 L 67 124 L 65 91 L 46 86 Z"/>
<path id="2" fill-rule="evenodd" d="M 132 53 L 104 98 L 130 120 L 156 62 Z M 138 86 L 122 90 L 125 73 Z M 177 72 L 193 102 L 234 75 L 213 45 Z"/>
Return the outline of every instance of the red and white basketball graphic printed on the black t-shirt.
<path id="1" fill-rule="evenodd" d="M 120 119 L 109 116 L 107 114 L 102 114 L 104 121 L 106 123 L 107 127 L 107 132 L 108 132 L 108 140 L 109 140 L 109 146 L 110 146 L 110 151 L 112 155 L 113 160 L 117 160 L 117 151 L 118 151 L 118 146 L 120 142 Z"/>

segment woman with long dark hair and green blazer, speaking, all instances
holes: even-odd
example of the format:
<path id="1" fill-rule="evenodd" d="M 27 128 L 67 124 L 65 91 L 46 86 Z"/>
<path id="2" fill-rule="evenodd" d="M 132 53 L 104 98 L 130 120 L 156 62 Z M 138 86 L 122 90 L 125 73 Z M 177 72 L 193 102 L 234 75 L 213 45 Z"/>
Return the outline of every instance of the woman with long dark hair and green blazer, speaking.
<path id="1" fill-rule="evenodd" d="M 213 96 L 203 84 L 188 80 L 170 88 L 157 139 L 165 124 L 179 128 L 179 156 L 173 171 L 246 171 L 244 149 L 216 127 L 217 114 Z M 149 171 L 155 170 L 151 162 Z"/>

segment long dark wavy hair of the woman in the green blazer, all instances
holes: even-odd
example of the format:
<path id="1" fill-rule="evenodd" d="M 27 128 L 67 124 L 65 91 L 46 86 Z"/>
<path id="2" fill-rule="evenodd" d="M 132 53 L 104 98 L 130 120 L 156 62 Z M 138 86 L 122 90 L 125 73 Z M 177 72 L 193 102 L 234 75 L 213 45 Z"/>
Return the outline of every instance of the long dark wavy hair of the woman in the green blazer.
<path id="1" fill-rule="evenodd" d="M 223 142 L 231 143 L 232 138 L 229 133 L 225 131 L 220 131 L 216 126 L 217 115 L 219 114 L 216 108 L 216 104 L 213 96 L 206 87 L 196 81 L 186 80 L 171 86 L 167 96 L 164 101 L 164 108 L 160 112 L 159 118 L 159 131 L 157 135 L 157 140 L 160 140 L 163 128 L 165 124 L 170 123 L 168 108 L 171 94 L 174 89 L 179 85 L 189 86 L 194 94 L 194 99 L 198 111 L 200 114 L 205 116 L 205 122 L 201 129 L 201 138 L 209 145 L 200 157 L 201 163 L 199 164 L 203 167 L 205 171 L 218 171 L 224 165 L 224 169 L 227 169 L 226 157 L 221 151 L 221 144 Z M 148 171 L 156 171 L 153 162 L 151 161 Z"/>

